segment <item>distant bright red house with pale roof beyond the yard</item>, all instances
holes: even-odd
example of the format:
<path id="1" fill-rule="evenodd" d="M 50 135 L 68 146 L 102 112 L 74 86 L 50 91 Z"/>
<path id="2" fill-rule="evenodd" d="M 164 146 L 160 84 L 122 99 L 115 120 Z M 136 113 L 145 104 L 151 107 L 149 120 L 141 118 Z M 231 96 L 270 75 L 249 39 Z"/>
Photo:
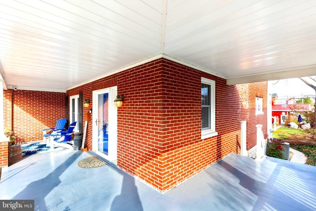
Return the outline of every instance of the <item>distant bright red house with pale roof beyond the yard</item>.
<path id="1" fill-rule="evenodd" d="M 272 105 L 272 117 L 276 117 L 276 124 L 288 125 L 291 121 L 297 121 L 298 112 L 311 111 L 310 104 Z M 274 119 L 272 119 L 274 123 Z"/>

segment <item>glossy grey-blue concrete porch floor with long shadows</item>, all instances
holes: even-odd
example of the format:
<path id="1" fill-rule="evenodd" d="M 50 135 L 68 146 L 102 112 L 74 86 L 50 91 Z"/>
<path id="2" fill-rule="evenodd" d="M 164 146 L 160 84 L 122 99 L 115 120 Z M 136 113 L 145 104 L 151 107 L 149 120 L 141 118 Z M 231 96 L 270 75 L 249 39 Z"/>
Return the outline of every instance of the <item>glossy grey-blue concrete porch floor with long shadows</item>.
<path id="1" fill-rule="evenodd" d="M 26 157 L 0 181 L 0 199 L 34 199 L 36 211 L 316 210 L 316 167 L 236 154 L 161 194 L 106 165 L 77 166 L 91 152 L 60 150 Z"/>

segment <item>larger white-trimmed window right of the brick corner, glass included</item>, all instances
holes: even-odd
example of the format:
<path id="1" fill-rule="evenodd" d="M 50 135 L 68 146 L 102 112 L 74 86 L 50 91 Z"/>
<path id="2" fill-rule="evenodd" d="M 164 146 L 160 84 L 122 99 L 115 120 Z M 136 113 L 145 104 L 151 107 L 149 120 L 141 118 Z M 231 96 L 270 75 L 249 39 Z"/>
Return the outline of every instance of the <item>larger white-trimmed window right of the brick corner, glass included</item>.
<path id="1" fill-rule="evenodd" d="M 215 131 L 215 81 L 201 79 L 201 138 L 217 135 Z"/>

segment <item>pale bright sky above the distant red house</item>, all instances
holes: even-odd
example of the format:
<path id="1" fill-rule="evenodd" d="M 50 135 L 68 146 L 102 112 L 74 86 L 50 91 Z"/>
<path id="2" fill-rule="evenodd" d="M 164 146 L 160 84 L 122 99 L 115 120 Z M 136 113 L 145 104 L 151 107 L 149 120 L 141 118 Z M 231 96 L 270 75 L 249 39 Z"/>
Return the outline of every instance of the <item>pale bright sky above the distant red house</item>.
<path id="1" fill-rule="evenodd" d="M 312 81 L 310 82 L 312 83 Z M 277 96 L 289 96 L 289 97 L 302 96 L 302 95 L 315 96 L 315 90 L 298 78 L 270 81 L 269 83 L 272 84 L 271 92 L 276 93 Z M 312 84 L 316 85 L 315 82 L 313 82 Z"/>

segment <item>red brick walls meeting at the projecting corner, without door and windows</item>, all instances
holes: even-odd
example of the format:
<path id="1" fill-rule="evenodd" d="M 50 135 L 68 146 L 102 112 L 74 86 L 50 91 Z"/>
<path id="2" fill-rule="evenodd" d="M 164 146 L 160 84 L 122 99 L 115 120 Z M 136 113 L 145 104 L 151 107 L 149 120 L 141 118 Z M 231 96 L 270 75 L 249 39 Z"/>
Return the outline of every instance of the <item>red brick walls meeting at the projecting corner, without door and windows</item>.
<path id="1" fill-rule="evenodd" d="M 201 77 L 216 82 L 215 137 L 201 140 Z M 69 96 L 118 85 L 124 103 L 118 109 L 118 167 L 160 191 L 166 191 L 231 153 L 240 153 L 240 121 L 247 120 L 248 146 L 256 143 L 256 124 L 265 115 L 252 117 L 256 93 L 264 95 L 266 83 L 226 85 L 226 80 L 193 68 L 158 59 L 67 91 Z M 249 91 L 249 88 L 254 90 Z M 92 149 L 88 123 L 86 147 Z"/>

